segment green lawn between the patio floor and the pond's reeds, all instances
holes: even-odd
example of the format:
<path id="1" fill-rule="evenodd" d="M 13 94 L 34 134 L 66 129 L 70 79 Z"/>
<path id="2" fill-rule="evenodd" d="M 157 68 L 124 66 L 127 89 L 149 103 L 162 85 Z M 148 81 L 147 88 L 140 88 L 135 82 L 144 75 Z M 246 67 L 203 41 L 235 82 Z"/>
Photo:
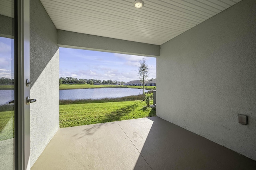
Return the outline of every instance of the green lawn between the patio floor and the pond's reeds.
<path id="1" fill-rule="evenodd" d="M 60 105 L 60 128 L 151 116 L 156 110 L 141 100 Z"/>

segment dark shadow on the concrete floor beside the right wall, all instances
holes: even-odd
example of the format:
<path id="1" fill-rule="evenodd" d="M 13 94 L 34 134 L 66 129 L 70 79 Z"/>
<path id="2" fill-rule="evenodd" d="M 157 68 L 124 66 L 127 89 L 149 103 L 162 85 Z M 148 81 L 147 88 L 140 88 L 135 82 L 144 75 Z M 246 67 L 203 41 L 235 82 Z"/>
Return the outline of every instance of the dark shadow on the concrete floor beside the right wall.
<path id="1" fill-rule="evenodd" d="M 159 117 L 148 119 L 154 122 L 139 151 L 153 170 L 256 169 L 256 161 L 250 158 Z M 140 169 L 137 164 L 135 170 Z"/>

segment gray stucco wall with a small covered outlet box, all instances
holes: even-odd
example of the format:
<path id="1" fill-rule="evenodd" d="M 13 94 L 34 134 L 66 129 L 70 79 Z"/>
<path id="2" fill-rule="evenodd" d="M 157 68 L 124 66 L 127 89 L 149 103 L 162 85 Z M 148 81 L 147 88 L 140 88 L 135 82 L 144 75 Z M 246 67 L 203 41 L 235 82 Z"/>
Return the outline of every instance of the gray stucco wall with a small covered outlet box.
<path id="1" fill-rule="evenodd" d="M 239 2 L 161 45 L 156 59 L 157 115 L 254 160 L 255 9 Z"/>

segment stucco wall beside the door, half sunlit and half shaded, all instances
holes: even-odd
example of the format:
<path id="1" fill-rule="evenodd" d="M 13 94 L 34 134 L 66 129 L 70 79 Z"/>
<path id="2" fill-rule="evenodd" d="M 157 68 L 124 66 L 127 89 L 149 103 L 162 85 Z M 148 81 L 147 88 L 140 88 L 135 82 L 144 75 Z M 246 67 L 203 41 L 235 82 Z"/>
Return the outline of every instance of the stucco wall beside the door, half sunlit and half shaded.
<path id="1" fill-rule="evenodd" d="M 57 30 L 40 0 L 30 0 L 31 166 L 59 128 Z"/>

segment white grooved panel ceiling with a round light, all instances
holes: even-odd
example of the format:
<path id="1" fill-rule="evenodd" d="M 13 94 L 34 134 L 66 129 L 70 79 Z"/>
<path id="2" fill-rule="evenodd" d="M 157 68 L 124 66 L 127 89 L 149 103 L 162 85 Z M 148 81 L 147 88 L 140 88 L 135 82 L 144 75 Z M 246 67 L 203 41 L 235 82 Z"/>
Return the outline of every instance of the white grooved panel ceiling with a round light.
<path id="1" fill-rule="evenodd" d="M 162 45 L 241 0 L 41 0 L 57 29 Z"/>

